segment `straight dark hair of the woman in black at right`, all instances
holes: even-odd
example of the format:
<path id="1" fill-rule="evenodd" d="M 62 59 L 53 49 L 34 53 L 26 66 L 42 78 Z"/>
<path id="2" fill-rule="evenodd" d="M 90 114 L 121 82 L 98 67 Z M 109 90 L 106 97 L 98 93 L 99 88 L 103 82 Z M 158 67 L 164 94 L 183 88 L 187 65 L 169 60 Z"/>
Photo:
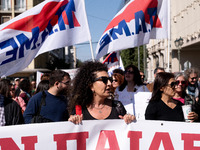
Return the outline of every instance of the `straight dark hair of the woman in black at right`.
<path id="1" fill-rule="evenodd" d="M 167 86 L 171 78 L 174 78 L 173 73 L 160 72 L 156 75 L 150 101 L 159 101 L 161 99 L 162 91 L 160 89 Z"/>

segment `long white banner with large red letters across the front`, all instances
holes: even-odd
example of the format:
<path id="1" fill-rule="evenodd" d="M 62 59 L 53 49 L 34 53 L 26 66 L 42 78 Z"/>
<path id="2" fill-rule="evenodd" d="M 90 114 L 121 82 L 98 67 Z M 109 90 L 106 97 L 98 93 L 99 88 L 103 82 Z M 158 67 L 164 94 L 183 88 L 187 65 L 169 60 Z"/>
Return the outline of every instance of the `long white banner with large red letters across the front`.
<path id="1" fill-rule="evenodd" d="M 0 133 L 1 150 L 200 149 L 198 123 L 92 120 L 0 127 Z"/>

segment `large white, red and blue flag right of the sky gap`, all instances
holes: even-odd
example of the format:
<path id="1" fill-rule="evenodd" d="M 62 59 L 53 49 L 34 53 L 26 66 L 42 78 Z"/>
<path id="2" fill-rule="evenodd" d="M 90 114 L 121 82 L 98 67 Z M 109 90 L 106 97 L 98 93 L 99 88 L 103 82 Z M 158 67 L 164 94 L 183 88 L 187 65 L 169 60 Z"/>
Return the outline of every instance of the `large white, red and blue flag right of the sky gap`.
<path id="1" fill-rule="evenodd" d="M 112 52 L 165 39 L 168 35 L 168 0 L 131 0 L 112 19 L 101 36 L 96 59 Z"/>

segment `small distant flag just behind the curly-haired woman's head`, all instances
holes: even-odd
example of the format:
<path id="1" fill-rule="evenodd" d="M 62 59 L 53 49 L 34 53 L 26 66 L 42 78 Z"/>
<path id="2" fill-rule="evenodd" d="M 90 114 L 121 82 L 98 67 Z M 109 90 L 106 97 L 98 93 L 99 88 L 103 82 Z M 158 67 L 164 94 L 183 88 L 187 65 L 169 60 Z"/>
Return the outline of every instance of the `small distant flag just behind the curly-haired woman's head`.
<path id="1" fill-rule="evenodd" d="M 124 70 L 124 65 L 122 63 L 121 56 L 119 51 L 111 52 L 103 61 L 103 64 L 106 64 L 108 67 L 108 74 L 109 76 L 112 75 L 113 70 L 115 69 L 122 69 Z"/>

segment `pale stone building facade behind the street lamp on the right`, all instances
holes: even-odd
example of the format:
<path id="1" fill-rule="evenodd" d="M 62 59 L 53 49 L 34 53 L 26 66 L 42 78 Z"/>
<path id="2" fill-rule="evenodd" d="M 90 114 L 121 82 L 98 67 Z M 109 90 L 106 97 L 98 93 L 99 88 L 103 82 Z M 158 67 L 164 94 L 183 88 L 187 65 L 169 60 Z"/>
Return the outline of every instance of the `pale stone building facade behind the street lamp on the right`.
<path id="1" fill-rule="evenodd" d="M 184 71 L 190 67 L 200 68 L 199 18 L 199 0 L 171 0 L 169 39 L 151 40 L 147 45 L 149 81 L 153 80 L 153 70 L 158 66 L 169 72 Z"/>

